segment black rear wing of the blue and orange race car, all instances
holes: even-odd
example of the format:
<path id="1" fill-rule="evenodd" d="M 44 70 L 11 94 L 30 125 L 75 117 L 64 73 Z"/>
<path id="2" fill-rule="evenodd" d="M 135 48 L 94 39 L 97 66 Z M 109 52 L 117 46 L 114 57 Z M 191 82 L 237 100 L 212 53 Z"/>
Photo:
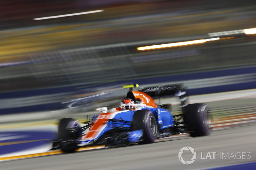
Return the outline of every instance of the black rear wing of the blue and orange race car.
<path id="1" fill-rule="evenodd" d="M 144 92 L 153 98 L 160 98 L 164 96 L 177 96 L 180 98 L 182 107 L 187 105 L 187 91 L 183 84 L 156 87 L 142 87 L 139 89 L 139 91 Z"/>

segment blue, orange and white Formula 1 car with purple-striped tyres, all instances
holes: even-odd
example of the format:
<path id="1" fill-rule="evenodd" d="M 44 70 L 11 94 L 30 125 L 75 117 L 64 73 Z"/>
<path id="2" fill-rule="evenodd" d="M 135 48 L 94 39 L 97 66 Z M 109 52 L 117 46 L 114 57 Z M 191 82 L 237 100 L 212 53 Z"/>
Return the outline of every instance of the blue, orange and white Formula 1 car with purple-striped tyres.
<path id="1" fill-rule="evenodd" d="M 157 138 L 188 133 L 191 137 L 209 135 L 213 117 L 207 104 L 187 104 L 187 93 L 183 85 L 166 85 L 140 88 L 138 84 L 124 85 L 129 88 L 120 107 L 98 108 L 103 112 L 94 115 L 84 126 L 72 118 L 59 122 L 58 138 L 52 149 L 75 152 L 85 145 L 96 144 L 148 144 Z M 177 96 L 180 98 L 182 114 L 172 115 L 170 105 L 159 105 L 153 98 Z"/>

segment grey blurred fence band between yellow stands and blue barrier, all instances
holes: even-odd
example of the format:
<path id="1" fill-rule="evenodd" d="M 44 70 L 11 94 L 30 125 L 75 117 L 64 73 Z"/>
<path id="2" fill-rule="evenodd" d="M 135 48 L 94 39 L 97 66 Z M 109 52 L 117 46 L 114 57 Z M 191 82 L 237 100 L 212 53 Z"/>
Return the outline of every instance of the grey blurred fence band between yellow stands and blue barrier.
<path id="1" fill-rule="evenodd" d="M 158 41 L 158 44 L 164 43 L 164 40 Z M 91 85 L 256 65 L 255 35 L 238 35 L 232 39 L 182 47 L 137 50 L 146 43 L 131 42 L 32 54 L 26 61 L 1 66 L 0 89 Z"/>

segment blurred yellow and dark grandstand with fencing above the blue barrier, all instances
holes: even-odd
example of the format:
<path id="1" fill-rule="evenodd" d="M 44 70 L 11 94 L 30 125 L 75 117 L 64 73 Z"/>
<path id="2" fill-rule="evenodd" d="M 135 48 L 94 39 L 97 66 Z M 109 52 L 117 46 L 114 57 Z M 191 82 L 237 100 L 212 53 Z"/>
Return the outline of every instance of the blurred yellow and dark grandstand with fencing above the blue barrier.
<path id="1" fill-rule="evenodd" d="M 1 1 L 0 91 L 89 85 L 256 65 L 256 36 L 140 51 L 253 28 L 255 1 Z M 104 12 L 45 20 L 90 10 Z"/>

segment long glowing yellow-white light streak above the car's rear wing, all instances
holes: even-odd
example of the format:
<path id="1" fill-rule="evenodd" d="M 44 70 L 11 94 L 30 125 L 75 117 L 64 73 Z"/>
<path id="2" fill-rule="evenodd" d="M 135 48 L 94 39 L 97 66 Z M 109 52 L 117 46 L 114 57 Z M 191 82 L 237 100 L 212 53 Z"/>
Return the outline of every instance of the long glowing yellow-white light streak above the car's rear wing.
<path id="1" fill-rule="evenodd" d="M 190 44 L 199 44 L 199 43 L 204 43 L 204 42 L 207 42 L 207 41 L 215 41 L 215 40 L 220 40 L 220 38 L 217 37 L 217 38 L 209 38 L 209 39 L 202 39 L 202 40 L 174 42 L 174 43 L 169 43 L 169 44 L 160 44 L 160 45 L 138 47 L 137 49 L 138 50 L 147 50 L 147 49 L 156 49 L 156 48 L 176 47 L 176 46 L 183 46 L 183 45 L 190 45 Z"/>

